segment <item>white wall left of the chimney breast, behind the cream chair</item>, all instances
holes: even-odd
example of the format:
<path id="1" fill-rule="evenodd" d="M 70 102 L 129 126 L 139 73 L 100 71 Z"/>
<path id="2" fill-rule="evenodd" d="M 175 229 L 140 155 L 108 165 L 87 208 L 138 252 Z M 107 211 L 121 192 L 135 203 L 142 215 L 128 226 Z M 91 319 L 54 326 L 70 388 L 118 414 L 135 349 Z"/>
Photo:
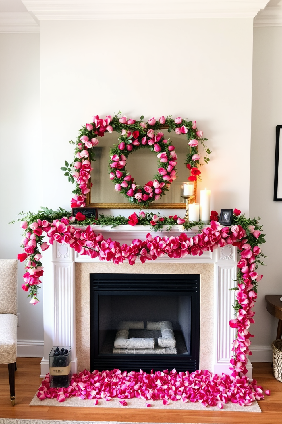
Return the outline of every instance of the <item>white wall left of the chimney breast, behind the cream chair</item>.
<path id="1" fill-rule="evenodd" d="M 8 225 L 24 211 L 42 205 L 39 34 L 0 34 L 0 258 L 21 252 L 19 224 Z M 19 263 L 19 356 L 42 352 L 42 304 L 32 307 L 22 290 Z"/>

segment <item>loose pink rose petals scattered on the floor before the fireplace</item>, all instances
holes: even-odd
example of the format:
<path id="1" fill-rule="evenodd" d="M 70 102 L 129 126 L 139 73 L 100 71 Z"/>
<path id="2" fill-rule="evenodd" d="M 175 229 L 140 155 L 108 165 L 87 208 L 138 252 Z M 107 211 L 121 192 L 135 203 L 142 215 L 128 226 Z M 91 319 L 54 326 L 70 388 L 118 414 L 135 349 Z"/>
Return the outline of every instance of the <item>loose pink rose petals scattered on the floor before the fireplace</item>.
<path id="1" fill-rule="evenodd" d="M 255 379 L 250 383 L 247 377 L 219 376 L 208 370 L 177 373 L 175 369 L 155 373 L 152 370 L 150 374 L 142 370 L 129 373 L 119 369 L 95 370 L 92 373 L 84 370 L 74 374 L 66 388 L 50 387 L 47 374 L 37 393 L 40 400 L 55 398 L 58 402 L 64 402 L 71 396 L 93 399 L 94 405 L 98 404 L 99 399 L 110 401 L 118 398 L 121 399 L 120 404 L 126 406 L 126 399 L 135 397 L 145 401 L 160 399 L 164 405 L 170 404 L 170 401 L 200 402 L 203 407 L 217 406 L 220 409 L 227 402 L 249 406 L 264 397 L 263 388 L 257 385 Z M 151 404 L 146 402 L 146 406 L 150 407 Z"/>

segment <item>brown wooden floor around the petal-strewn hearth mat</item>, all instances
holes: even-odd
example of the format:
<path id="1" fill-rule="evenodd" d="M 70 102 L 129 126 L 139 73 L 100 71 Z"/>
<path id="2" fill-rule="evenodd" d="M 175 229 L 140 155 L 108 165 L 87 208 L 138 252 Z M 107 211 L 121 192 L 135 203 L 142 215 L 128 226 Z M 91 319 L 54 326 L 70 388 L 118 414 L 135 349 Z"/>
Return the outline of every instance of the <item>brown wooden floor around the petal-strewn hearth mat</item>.
<path id="1" fill-rule="evenodd" d="M 254 378 L 271 396 L 259 402 L 262 413 L 225 411 L 183 411 L 90 407 L 29 406 L 41 383 L 40 358 L 18 358 L 16 371 L 16 405 L 10 402 L 8 365 L 0 365 L 0 418 L 30 418 L 79 421 L 135 421 L 172 423 L 281 424 L 282 383 L 273 376 L 270 363 L 254 363 Z M 246 407 L 247 409 L 247 407 Z"/>

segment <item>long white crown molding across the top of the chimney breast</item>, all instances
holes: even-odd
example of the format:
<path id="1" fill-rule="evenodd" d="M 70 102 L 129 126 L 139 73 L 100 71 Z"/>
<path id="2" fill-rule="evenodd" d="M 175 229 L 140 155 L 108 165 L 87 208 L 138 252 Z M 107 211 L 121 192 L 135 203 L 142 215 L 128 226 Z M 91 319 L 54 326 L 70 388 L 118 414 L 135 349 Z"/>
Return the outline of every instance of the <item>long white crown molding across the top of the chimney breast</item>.
<path id="1" fill-rule="evenodd" d="M 268 0 L 22 0 L 38 20 L 252 17 Z"/>

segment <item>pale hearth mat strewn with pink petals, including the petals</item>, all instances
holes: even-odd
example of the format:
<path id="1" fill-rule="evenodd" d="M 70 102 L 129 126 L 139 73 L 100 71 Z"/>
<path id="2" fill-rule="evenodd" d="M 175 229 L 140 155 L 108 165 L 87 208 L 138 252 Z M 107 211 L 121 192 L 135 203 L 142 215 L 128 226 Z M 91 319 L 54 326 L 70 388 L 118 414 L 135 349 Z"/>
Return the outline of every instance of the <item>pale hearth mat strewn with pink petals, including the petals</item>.
<path id="1" fill-rule="evenodd" d="M 265 393 L 270 394 L 269 391 Z M 150 374 L 142 370 L 130 373 L 119 369 L 92 373 L 84 370 L 73 374 L 68 387 L 50 387 L 50 375 L 47 374 L 30 405 L 178 410 L 206 407 L 209 410 L 261 412 L 256 400 L 263 396 L 263 388 L 256 380 L 250 383 L 247 377 L 219 376 L 208 370 L 191 374 L 188 371 L 177 373 L 175 369 L 151 371 Z"/>

